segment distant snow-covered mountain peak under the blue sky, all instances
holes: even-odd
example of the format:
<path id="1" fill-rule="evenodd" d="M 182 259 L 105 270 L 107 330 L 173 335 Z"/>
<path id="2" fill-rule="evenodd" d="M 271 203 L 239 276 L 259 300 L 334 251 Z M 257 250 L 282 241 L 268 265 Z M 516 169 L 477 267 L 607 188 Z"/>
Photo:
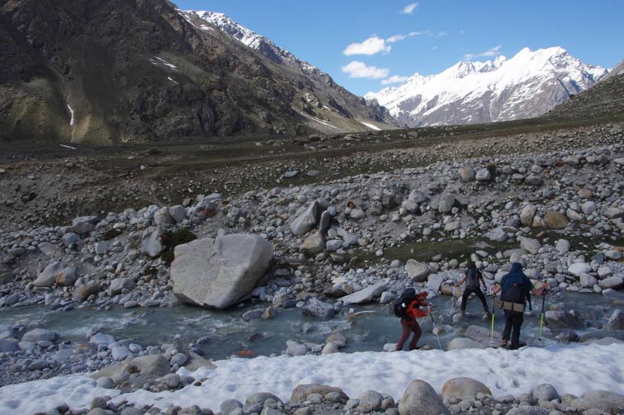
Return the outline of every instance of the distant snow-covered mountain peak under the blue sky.
<path id="1" fill-rule="evenodd" d="M 437 75 L 416 73 L 366 98 L 409 127 L 516 120 L 546 113 L 606 74 L 559 47 L 524 48 L 511 59 L 459 62 Z"/>

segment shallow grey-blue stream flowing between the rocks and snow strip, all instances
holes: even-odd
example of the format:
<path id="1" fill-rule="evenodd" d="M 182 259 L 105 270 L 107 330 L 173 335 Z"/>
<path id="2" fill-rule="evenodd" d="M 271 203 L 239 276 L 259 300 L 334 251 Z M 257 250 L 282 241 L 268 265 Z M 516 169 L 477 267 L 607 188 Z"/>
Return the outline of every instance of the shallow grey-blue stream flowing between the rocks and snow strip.
<path id="1" fill-rule="evenodd" d="M 464 333 L 469 325 L 482 328 L 482 341 L 489 342 L 491 320 L 483 317 L 481 302 L 472 297 L 468 302 L 466 317 L 459 324 L 452 322 L 452 299 L 439 296 L 431 300 L 434 304 L 434 320 L 441 329 L 440 341 L 443 348 L 453 338 Z M 488 300 L 491 306 L 491 299 Z M 618 300 L 609 300 L 602 295 L 567 293 L 560 297 L 547 297 L 549 304 L 565 303 L 565 310 L 574 309 L 581 315 L 585 326 L 575 328 L 579 334 L 598 331 L 612 314 L 614 308 L 624 310 Z M 548 345 L 558 331 L 544 328 L 542 340 L 539 340 L 541 298 L 533 299 L 533 316 L 526 317 L 522 326 L 522 340 L 533 345 Z M 187 342 L 193 342 L 203 336 L 210 340 L 201 344 L 207 358 L 222 359 L 233 354 L 252 357 L 268 356 L 281 353 L 286 349 L 287 340 L 321 344 L 332 331 L 342 331 L 347 337 L 347 353 L 354 351 L 381 351 L 388 342 L 396 342 L 401 335 L 398 318 L 389 313 L 387 306 L 371 304 L 354 307 L 355 316 L 346 313 L 337 315 L 332 320 L 320 321 L 302 316 L 296 308 L 278 310 L 271 320 L 252 320 L 245 322 L 241 315 L 250 309 L 261 308 L 247 306 L 229 311 L 212 311 L 194 306 L 174 306 L 172 308 L 132 308 L 120 306 L 110 310 L 77 308 L 71 311 L 50 311 L 44 306 L 7 308 L 0 311 L 0 324 L 21 323 L 27 326 L 41 326 L 59 333 L 61 340 L 84 342 L 91 329 L 109 333 L 117 340 L 131 338 L 143 347 L 171 342 L 175 334 L 181 334 Z M 459 308 L 457 300 L 456 309 Z M 432 334 L 430 317 L 420 320 L 423 337 L 420 344 L 439 348 L 438 341 Z M 502 311 L 495 313 L 495 331 L 502 332 L 504 317 Z M 602 333 L 605 335 L 605 333 Z M 618 337 L 618 333 L 607 333 Z M 495 337 L 494 341 L 498 342 Z"/>

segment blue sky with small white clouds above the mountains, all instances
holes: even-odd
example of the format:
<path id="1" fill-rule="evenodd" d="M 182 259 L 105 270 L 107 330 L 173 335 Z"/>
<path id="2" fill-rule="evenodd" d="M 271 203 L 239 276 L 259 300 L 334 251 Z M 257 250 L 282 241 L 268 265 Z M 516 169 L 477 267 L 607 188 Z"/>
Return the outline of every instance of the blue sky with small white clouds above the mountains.
<path id="1" fill-rule="evenodd" d="M 624 59 L 621 0 L 174 2 L 185 10 L 226 13 L 359 95 L 467 57 L 511 57 L 525 46 L 562 46 L 606 68 Z"/>

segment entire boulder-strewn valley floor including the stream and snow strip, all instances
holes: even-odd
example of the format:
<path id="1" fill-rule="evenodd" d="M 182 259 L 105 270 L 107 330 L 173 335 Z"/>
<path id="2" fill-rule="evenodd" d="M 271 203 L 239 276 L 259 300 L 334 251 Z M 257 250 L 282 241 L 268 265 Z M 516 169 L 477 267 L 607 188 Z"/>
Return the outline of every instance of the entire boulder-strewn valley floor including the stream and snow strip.
<path id="1" fill-rule="evenodd" d="M 623 414 L 624 124 L 436 131 L 8 145 L 0 413 Z M 470 260 L 548 284 L 527 347 L 459 313 Z"/>

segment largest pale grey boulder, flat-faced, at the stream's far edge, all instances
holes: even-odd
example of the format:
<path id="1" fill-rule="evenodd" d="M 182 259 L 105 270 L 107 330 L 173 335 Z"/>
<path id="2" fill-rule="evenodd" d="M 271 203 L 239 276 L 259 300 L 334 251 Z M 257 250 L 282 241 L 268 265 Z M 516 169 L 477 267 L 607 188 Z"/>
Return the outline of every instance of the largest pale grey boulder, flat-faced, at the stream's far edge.
<path id="1" fill-rule="evenodd" d="M 227 308 L 250 293 L 273 259 L 259 235 L 230 234 L 178 245 L 171 265 L 176 297 L 210 308 Z"/>

